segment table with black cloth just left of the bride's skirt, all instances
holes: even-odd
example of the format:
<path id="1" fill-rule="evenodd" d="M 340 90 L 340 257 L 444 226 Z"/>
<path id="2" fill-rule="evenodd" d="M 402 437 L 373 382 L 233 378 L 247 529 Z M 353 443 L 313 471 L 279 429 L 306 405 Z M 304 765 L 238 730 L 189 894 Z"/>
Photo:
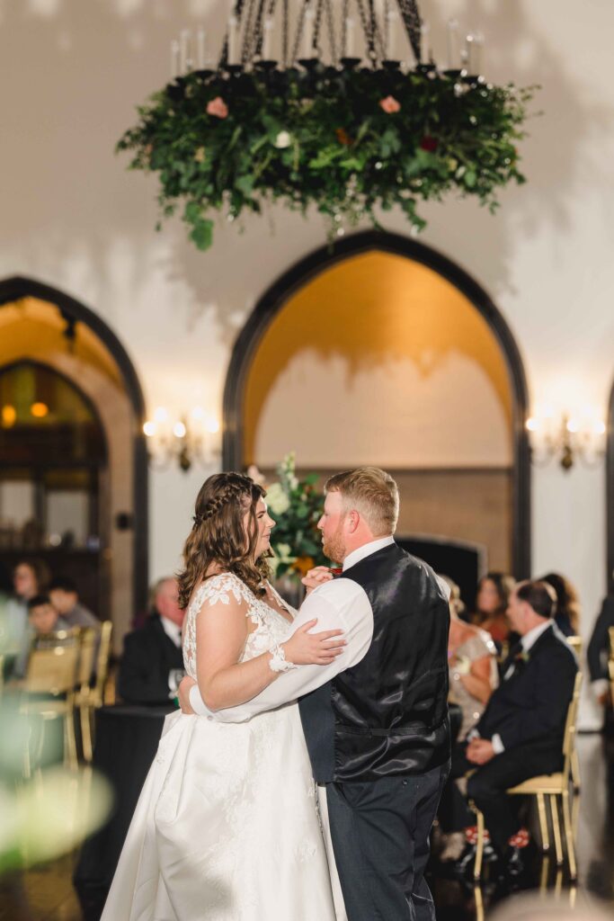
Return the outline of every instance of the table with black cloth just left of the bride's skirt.
<path id="1" fill-rule="evenodd" d="M 96 711 L 93 766 L 115 793 L 110 821 L 84 843 L 75 869 L 75 890 L 85 921 L 98 921 L 122 852 L 136 802 L 172 705 L 103 706 Z"/>

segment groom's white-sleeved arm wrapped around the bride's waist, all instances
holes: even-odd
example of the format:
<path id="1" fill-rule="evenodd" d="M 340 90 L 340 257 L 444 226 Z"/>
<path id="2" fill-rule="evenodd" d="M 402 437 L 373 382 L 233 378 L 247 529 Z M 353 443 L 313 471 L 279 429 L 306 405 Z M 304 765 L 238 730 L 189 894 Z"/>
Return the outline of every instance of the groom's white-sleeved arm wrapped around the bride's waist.
<path id="1" fill-rule="evenodd" d="M 352 668 L 364 658 L 373 637 L 373 611 L 366 597 L 365 589 L 349 578 L 333 579 L 314 589 L 301 605 L 293 626 L 300 627 L 307 621 L 318 618 L 314 632 L 320 630 L 343 630 L 347 646 L 342 655 L 330 665 L 299 665 L 284 671 L 257 697 L 239 706 L 211 712 L 195 684 L 190 691 L 192 710 L 199 716 L 213 717 L 223 723 L 241 723 L 264 710 L 296 700 L 303 694 L 314 691 L 320 685 L 330 682 L 340 671 Z"/>

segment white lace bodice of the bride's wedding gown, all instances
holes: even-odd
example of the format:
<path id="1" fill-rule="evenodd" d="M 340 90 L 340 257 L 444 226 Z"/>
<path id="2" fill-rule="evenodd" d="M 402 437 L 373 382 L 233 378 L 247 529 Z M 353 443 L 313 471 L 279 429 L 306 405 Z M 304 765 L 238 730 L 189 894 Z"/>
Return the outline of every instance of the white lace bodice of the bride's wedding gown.
<path id="1" fill-rule="evenodd" d="M 290 612 L 293 617 L 295 611 L 290 608 L 278 595 L 273 593 L 280 604 Z M 284 643 L 292 633 L 292 624 L 280 612 L 275 611 L 266 601 L 257 598 L 247 587 L 245 582 L 234 573 L 220 573 L 208 578 L 206 582 L 194 592 L 183 627 L 183 663 L 186 672 L 196 679 L 196 617 L 204 607 L 214 607 L 218 604 L 229 604 L 234 598 L 237 603 L 243 601 L 246 605 L 246 616 L 256 624 L 256 629 L 249 635 L 240 661 L 255 659 L 263 652 L 268 652 L 277 643 Z"/>

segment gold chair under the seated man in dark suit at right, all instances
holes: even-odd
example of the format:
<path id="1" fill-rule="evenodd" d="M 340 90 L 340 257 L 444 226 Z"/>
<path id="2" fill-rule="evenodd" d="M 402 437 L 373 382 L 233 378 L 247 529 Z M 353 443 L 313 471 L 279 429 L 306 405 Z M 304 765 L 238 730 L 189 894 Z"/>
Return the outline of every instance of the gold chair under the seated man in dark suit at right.
<path id="1" fill-rule="evenodd" d="M 530 777 L 528 780 L 523 781 L 522 784 L 518 784 L 516 787 L 510 787 L 506 790 L 508 796 L 534 796 L 538 800 L 539 831 L 541 833 L 541 844 L 544 851 L 550 849 L 550 836 L 548 834 L 548 821 L 546 818 L 546 798 L 549 798 L 557 866 L 562 866 L 563 862 L 561 826 L 559 824 L 559 798 L 561 799 L 562 821 L 567 845 L 567 859 L 572 880 L 575 880 L 577 871 L 575 847 L 573 845 L 572 813 L 569 805 L 569 787 L 572 779 L 573 740 L 575 736 L 575 723 L 578 714 L 578 704 L 580 702 L 581 686 L 582 673 L 578 671 L 573 685 L 572 700 L 567 710 L 567 721 L 565 723 L 565 733 L 562 742 L 562 771 L 557 774 Z M 481 878 L 481 863 L 484 854 L 484 816 L 474 802 L 469 801 L 469 806 L 476 814 L 478 825 L 478 843 L 476 845 L 473 878 L 479 880 Z"/>

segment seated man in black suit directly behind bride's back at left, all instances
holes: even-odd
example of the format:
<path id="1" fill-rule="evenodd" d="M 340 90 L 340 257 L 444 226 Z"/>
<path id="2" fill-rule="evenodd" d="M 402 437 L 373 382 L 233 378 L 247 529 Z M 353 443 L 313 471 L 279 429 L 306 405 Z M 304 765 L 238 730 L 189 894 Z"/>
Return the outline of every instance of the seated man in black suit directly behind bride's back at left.
<path id="1" fill-rule="evenodd" d="M 181 625 L 174 578 L 162 578 L 154 591 L 156 611 L 145 626 L 128 634 L 118 676 L 118 693 L 128 704 L 168 705 L 183 676 Z"/>

